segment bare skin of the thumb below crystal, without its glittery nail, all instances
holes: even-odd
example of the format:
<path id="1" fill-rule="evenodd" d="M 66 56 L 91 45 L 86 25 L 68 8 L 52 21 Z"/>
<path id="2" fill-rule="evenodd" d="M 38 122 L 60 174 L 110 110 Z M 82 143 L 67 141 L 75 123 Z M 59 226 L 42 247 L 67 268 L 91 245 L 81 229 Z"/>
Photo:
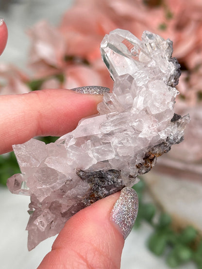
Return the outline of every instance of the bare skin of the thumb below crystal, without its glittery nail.
<path id="1" fill-rule="evenodd" d="M 124 238 L 110 218 L 119 195 L 101 199 L 71 217 L 39 268 L 51 264 L 56 269 L 67 263 L 69 268 L 120 268 Z"/>

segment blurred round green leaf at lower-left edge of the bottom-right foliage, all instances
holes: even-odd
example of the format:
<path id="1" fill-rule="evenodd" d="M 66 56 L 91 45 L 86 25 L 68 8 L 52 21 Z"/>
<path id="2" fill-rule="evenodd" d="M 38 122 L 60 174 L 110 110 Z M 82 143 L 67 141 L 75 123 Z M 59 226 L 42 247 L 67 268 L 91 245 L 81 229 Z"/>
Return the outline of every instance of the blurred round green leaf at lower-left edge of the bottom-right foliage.
<path id="1" fill-rule="evenodd" d="M 160 256 L 164 253 L 167 244 L 167 236 L 165 234 L 156 232 L 149 238 L 149 249 Z"/>

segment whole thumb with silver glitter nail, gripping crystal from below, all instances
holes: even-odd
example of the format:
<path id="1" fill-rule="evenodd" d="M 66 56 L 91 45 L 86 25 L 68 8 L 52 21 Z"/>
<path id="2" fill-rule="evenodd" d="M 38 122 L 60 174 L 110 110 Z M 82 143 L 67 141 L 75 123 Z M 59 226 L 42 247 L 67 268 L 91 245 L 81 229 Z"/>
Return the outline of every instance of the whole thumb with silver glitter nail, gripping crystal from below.
<path id="1" fill-rule="evenodd" d="M 38 269 L 120 268 L 124 239 L 137 210 L 137 194 L 131 188 L 84 208 L 66 222 Z"/>

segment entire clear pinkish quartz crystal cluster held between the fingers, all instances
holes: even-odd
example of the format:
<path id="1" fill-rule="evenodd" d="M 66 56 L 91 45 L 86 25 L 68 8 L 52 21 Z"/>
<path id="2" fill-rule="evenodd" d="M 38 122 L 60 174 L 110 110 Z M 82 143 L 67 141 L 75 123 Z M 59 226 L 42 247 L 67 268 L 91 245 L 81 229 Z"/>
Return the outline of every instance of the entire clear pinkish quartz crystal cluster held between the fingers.
<path id="1" fill-rule="evenodd" d="M 8 179 L 13 193 L 31 196 L 28 249 L 60 232 L 80 209 L 150 171 L 156 158 L 183 140 L 189 116 L 174 113 L 180 76 L 172 42 L 151 32 L 142 41 L 117 29 L 105 35 L 101 55 L 114 79 L 99 114 L 55 143 L 31 139 L 14 145 L 21 174 Z"/>

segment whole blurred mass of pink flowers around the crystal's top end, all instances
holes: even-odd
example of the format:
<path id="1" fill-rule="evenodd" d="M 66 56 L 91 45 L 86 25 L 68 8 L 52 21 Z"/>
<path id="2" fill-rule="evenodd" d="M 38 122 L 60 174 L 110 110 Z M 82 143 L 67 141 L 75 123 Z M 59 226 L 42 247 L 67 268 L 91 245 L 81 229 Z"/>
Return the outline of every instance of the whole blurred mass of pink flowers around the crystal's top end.
<path id="1" fill-rule="evenodd" d="M 100 57 L 104 34 L 122 28 L 141 38 L 148 30 L 173 41 L 173 56 L 183 68 L 178 90 L 194 105 L 202 90 L 201 14 L 200 0 L 162 0 L 160 4 L 155 0 L 77 0 L 58 28 L 42 21 L 29 30 L 34 78 L 47 77 L 50 82 L 51 76 L 63 74 L 63 87 L 82 83 L 111 87 Z"/>

